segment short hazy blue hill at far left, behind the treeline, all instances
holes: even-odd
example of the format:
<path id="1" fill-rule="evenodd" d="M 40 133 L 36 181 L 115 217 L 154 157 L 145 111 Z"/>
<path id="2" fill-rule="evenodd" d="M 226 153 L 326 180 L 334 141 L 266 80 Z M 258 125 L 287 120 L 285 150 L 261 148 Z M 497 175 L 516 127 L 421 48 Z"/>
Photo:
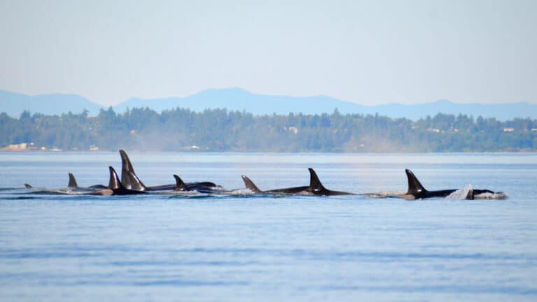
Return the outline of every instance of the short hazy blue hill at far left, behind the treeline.
<path id="1" fill-rule="evenodd" d="M 92 103 L 83 96 L 76 94 L 41 94 L 29 96 L 0 90 L 0 112 L 12 117 L 19 117 L 24 110 L 45 115 L 60 115 L 62 113 L 81 113 L 84 109 L 90 115 L 99 114 L 100 105 Z"/>

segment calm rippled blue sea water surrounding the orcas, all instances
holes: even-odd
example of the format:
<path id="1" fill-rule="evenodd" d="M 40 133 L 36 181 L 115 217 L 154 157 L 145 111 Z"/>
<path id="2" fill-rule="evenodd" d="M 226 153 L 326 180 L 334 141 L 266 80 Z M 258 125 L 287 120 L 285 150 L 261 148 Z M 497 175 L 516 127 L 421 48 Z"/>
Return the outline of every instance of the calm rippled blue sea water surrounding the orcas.
<path id="1" fill-rule="evenodd" d="M 537 154 L 129 153 L 146 185 L 210 180 L 508 199 L 69 196 L 116 152 L 0 153 L 0 301 L 537 301 Z"/>

